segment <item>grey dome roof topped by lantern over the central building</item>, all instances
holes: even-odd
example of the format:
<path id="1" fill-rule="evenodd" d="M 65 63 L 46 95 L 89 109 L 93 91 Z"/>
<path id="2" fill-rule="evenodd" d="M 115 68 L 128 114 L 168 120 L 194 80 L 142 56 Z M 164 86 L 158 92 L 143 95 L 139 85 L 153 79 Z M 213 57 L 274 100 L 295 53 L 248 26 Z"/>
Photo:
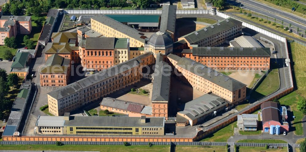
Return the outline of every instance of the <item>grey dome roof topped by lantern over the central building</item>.
<path id="1" fill-rule="evenodd" d="M 172 46 L 172 38 L 169 34 L 159 31 L 151 35 L 149 39 L 149 44 L 154 47 L 166 47 L 170 45 Z"/>

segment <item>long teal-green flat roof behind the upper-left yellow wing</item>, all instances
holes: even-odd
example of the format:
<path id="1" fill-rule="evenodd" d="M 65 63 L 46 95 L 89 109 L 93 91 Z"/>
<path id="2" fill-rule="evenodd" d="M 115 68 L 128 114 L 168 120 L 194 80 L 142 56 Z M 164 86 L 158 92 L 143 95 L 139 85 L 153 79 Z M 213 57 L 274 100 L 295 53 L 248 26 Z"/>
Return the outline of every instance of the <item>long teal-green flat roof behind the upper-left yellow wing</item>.
<path id="1" fill-rule="evenodd" d="M 106 15 L 121 23 L 158 23 L 159 15 Z"/>

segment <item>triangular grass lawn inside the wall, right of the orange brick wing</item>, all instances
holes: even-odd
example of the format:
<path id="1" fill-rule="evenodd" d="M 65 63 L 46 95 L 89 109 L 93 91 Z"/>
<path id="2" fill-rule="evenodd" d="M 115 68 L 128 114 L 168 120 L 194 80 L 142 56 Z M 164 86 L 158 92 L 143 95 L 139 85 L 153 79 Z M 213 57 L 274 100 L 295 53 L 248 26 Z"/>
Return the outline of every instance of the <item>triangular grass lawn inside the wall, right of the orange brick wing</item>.
<path id="1" fill-rule="evenodd" d="M 271 62 L 271 67 L 276 67 L 275 63 Z M 279 89 L 279 73 L 277 68 L 272 68 L 268 76 L 265 77 L 263 82 L 259 84 L 255 91 L 252 92 L 251 97 L 258 100 L 263 98 Z"/>

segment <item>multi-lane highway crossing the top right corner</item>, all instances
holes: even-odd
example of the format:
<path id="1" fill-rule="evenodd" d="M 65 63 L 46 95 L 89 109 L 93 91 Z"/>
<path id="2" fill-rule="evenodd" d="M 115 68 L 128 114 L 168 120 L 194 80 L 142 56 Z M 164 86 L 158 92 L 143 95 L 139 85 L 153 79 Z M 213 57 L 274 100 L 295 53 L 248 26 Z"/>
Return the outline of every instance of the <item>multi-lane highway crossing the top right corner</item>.
<path id="1" fill-rule="evenodd" d="M 299 27 L 304 30 L 306 29 L 306 25 L 305 25 L 306 20 L 304 18 L 284 12 L 280 9 L 276 9 L 274 7 L 271 7 L 271 6 L 253 1 L 253 0 L 252 1 L 251 0 L 237 0 L 237 1 L 228 0 L 227 2 L 235 6 L 238 6 L 239 2 L 241 2 L 244 5 L 243 8 L 245 9 L 251 10 L 256 13 L 261 13 L 263 15 L 266 15 L 272 18 L 276 18 L 277 20 L 284 20 L 285 23 L 288 23 L 288 24 L 291 23 L 292 26 Z M 257 6 L 257 7 L 254 7 L 254 6 Z M 287 17 L 288 19 L 285 18 L 284 16 Z M 292 20 L 295 20 L 295 22 Z"/>

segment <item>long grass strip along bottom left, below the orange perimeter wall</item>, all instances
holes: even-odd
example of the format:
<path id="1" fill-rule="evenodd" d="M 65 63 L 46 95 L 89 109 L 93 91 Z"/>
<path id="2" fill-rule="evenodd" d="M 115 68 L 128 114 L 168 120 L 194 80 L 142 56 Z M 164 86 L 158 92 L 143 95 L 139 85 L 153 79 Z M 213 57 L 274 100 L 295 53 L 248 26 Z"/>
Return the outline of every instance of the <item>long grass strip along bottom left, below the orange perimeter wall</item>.
<path id="1" fill-rule="evenodd" d="M 100 152 L 169 152 L 169 145 L 123 146 L 123 145 L 1 145 L 1 150 L 69 150 L 69 151 L 100 151 Z"/>

